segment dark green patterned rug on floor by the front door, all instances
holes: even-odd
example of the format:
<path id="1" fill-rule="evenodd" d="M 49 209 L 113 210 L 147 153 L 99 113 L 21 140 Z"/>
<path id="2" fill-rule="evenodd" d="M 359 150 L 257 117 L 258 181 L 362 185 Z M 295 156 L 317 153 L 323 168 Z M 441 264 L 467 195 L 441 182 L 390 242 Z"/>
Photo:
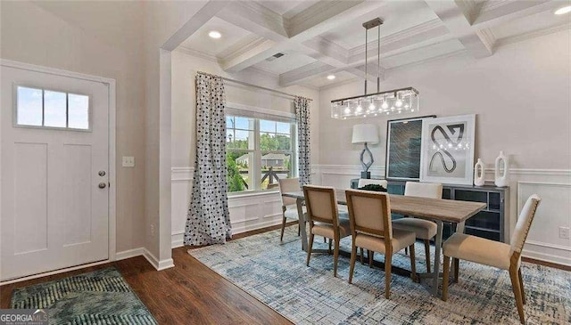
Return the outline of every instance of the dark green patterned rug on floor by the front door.
<path id="1" fill-rule="evenodd" d="M 11 308 L 44 309 L 50 324 L 157 324 L 114 267 L 15 289 Z"/>

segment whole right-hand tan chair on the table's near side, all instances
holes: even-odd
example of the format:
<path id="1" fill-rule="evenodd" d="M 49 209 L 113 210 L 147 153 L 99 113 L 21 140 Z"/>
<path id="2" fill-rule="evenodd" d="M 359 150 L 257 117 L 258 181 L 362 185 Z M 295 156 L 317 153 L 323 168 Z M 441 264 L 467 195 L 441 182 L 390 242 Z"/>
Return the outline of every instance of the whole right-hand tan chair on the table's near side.
<path id="1" fill-rule="evenodd" d="M 412 280 L 416 280 L 414 257 L 414 232 L 393 229 L 391 204 L 388 194 L 374 191 L 345 191 L 349 207 L 349 223 L 352 233 L 351 267 L 349 283 L 352 283 L 357 248 L 385 255 L 385 297 L 391 296 L 391 262 L 393 255 L 410 247 L 410 270 Z"/>

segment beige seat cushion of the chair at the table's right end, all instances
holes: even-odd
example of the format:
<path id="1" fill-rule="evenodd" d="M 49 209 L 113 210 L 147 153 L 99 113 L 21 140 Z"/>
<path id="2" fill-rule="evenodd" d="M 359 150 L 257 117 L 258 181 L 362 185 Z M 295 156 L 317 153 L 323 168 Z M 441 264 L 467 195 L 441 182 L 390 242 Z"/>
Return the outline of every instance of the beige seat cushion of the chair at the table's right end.
<path id="1" fill-rule="evenodd" d="M 499 241 L 454 233 L 443 245 L 445 256 L 509 270 L 509 245 Z M 519 263 L 519 262 L 518 262 Z"/>

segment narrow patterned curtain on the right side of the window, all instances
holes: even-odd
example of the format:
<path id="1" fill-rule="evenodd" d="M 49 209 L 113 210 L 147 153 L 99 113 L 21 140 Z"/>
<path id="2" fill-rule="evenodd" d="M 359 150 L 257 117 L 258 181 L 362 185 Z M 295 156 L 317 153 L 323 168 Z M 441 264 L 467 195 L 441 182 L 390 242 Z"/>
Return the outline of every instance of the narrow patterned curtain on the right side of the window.
<path id="1" fill-rule="evenodd" d="M 295 97 L 295 117 L 297 118 L 297 141 L 298 141 L 298 169 L 300 184 L 311 183 L 310 170 L 310 105 L 307 98 Z"/>

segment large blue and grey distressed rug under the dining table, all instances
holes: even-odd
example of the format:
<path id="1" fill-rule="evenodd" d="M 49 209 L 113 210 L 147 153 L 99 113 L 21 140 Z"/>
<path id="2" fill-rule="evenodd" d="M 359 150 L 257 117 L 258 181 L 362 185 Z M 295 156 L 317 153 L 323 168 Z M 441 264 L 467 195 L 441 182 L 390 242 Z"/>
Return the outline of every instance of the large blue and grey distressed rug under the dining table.
<path id="1" fill-rule="evenodd" d="M 350 251 L 351 238 L 341 246 Z M 326 246 L 316 237 L 314 248 Z M 424 245 L 418 243 L 416 252 L 417 270 L 424 272 Z M 461 261 L 447 302 L 393 274 L 387 300 L 379 268 L 357 263 L 349 284 L 347 257 L 340 256 L 336 278 L 333 256 L 313 254 L 305 266 L 296 226 L 286 229 L 283 243 L 273 231 L 188 253 L 296 324 L 519 324 L 508 272 L 485 265 Z M 399 253 L 393 265 L 410 269 L 410 257 Z M 527 323 L 571 323 L 571 272 L 527 263 L 522 272 Z"/>

